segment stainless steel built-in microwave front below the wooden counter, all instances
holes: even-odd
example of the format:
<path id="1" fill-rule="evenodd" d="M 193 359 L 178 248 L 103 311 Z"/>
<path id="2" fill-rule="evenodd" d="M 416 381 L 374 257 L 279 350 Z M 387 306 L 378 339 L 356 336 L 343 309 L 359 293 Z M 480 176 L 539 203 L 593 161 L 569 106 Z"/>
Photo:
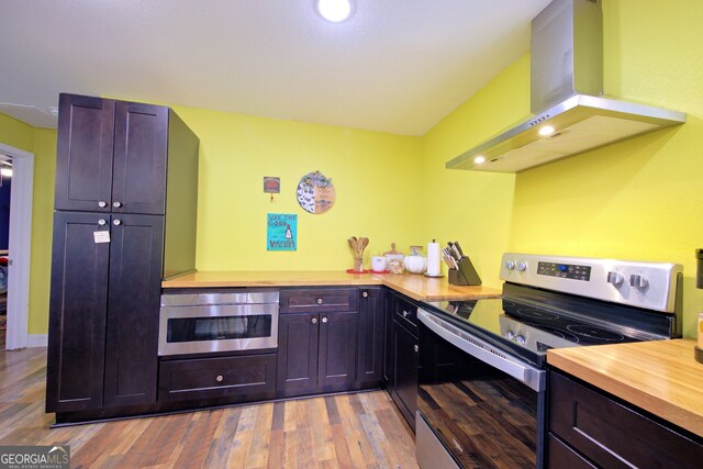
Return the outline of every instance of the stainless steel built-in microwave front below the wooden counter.
<path id="1" fill-rule="evenodd" d="M 161 356 L 276 347 L 278 303 L 161 306 Z"/>

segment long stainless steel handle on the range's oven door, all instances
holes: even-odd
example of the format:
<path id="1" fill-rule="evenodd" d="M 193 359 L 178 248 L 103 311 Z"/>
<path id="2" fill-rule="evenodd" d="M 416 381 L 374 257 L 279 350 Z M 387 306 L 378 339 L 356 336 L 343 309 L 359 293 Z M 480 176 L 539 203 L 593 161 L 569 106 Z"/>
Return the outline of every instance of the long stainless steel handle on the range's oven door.
<path id="1" fill-rule="evenodd" d="M 417 317 L 432 332 L 467 354 L 510 375 L 537 392 L 545 390 L 547 371 L 506 356 L 502 350 L 427 311 L 419 309 Z"/>

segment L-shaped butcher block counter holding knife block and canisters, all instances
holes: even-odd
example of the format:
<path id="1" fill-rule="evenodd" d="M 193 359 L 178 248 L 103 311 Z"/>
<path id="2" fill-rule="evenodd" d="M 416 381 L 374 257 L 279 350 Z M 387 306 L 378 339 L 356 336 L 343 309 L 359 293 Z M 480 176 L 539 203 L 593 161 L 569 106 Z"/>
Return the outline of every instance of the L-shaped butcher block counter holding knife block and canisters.
<path id="1" fill-rule="evenodd" d="M 493 298 L 500 290 L 449 284 L 446 277 L 341 271 L 197 271 L 165 280 L 163 288 L 386 286 L 417 301 Z"/>

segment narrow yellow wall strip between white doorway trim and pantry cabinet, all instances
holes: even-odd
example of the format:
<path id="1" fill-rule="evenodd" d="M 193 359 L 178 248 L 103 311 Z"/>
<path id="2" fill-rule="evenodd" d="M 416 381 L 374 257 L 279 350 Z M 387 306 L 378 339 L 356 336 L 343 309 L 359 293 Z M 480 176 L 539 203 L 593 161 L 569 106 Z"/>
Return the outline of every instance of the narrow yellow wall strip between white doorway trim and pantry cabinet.
<path id="1" fill-rule="evenodd" d="M 30 267 L 30 334 L 46 334 L 54 212 L 56 131 L 34 129 L 0 114 L 0 143 L 34 154 L 32 250 Z"/>

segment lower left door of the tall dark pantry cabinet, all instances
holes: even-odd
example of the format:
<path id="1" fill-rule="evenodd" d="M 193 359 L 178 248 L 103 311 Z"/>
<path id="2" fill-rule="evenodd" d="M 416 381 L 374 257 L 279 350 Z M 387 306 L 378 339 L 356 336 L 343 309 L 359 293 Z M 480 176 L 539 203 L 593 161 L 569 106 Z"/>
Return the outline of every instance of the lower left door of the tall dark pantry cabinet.
<path id="1" fill-rule="evenodd" d="M 99 213 L 54 213 L 47 412 L 102 406 L 110 244 L 96 244 L 93 232 L 108 223 Z"/>

